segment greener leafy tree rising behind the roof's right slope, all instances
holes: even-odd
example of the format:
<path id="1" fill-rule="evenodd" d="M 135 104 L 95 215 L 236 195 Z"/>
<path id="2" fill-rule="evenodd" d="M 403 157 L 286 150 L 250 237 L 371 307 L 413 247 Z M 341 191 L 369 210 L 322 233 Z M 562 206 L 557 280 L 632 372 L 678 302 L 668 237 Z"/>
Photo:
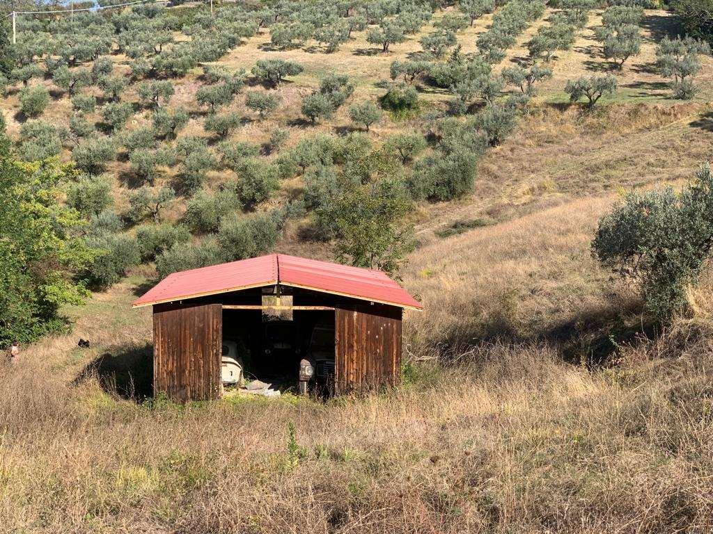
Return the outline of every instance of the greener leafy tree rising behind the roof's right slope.
<path id="1" fill-rule="evenodd" d="M 401 184 L 351 184 L 328 209 L 337 261 L 391 275 L 401 270 L 414 248 L 412 231 L 404 221 L 411 202 Z"/>

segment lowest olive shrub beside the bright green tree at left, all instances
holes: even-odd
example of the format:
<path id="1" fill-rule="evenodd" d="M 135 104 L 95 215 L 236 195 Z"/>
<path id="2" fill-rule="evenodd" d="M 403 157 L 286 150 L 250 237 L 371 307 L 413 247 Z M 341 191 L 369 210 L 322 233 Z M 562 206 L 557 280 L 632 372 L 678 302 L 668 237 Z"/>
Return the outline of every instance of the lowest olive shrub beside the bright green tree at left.
<path id="1" fill-rule="evenodd" d="M 129 268 L 140 263 L 138 243 L 125 234 L 91 236 L 87 245 L 98 251 L 98 256 L 83 268 L 79 276 L 92 289 L 111 287 L 126 275 Z"/>

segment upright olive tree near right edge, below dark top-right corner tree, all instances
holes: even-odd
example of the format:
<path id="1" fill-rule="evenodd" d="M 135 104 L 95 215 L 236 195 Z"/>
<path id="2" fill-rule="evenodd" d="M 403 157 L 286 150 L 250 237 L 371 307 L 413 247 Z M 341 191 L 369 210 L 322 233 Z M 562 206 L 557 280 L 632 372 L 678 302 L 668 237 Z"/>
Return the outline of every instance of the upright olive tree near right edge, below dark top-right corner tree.
<path id="1" fill-rule="evenodd" d="M 710 54 L 708 43 L 694 38 L 664 37 L 656 49 L 657 65 L 662 75 L 673 78 L 674 98 L 692 98 L 696 92 L 694 76 L 701 70 L 699 54 Z"/>

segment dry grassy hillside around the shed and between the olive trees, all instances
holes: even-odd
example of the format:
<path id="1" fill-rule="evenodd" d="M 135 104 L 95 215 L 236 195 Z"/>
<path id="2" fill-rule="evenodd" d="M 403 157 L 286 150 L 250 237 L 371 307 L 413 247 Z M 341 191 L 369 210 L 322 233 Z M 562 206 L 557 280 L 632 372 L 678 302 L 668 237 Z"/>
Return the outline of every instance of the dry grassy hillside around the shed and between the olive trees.
<path id="1" fill-rule="evenodd" d="M 181 13 L 188 24 L 201 20 L 194 9 L 167 11 Z M 477 36 L 502 9 L 456 32 L 463 53 L 478 53 Z M 494 63 L 493 75 L 526 63 L 526 43 L 558 11 L 548 7 L 528 23 Z M 424 311 L 404 319 L 401 387 L 326 402 L 290 392 L 187 406 L 146 397 L 150 310 L 130 309 L 158 276 L 154 258 L 144 258 L 127 266 L 118 282 L 93 291 L 86 305 L 63 306 L 67 333 L 23 345 L 18 364 L 0 367 L 0 533 L 709 531 L 709 268 L 690 290 L 692 309 L 661 325 L 645 313 L 635 286 L 595 261 L 591 242 L 597 221 L 623 192 L 680 188 L 713 158 L 713 59 L 700 57 L 694 97 L 674 99 L 654 62 L 663 36 L 679 33 L 678 19 L 646 9 L 640 53 L 619 71 L 607 66 L 595 40 L 604 12 L 590 9 L 572 46 L 555 51 L 548 63 L 552 77 L 518 106 L 512 131 L 477 155 L 466 191 L 409 199 L 402 223 L 413 229 L 416 244 L 399 274 Z M 424 75 L 414 84 L 419 107 L 384 110 L 368 132 L 352 125 L 349 105 L 379 103 L 391 63 L 418 59 L 419 38 L 457 13 L 451 5 L 436 10 L 387 53 L 366 41 L 367 31 L 354 31 L 333 53 L 312 38 L 278 50 L 270 28 L 259 28 L 208 62 L 247 72 L 240 93 L 220 106 L 220 114 L 241 117 L 227 140 L 258 147 L 247 159 L 277 165 L 316 134 L 344 142 L 358 131 L 378 156 L 390 135 L 416 132 L 427 143 L 415 161 L 384 164 L 387 172 L 376 166 L 366 180 L 378 183 L 393 172 L 411 183 L 421 158 L 447 156 L 445 122 L 438 121 L 473 120 L 487 104 L 476 98 L 468 112 L 451 115 L 453 92 Z M 178 28 L 171 35 L 176 42 L 192 39 Z M 113 199 L 106 209 L 123 218 L 143 184 L 131 170 L 125 138 L 151 125 L 155 110 L 138 103 L 138 86 L 146 80 L 130 75 L 130 58 L 109 57 L 113 73 L 130 80 L 120 102 L 131 103 L 133 114 L 118 132 L 103 131 L 101 106 L 108 102 L 90 85 L 82 92 L 101 104 L 83 117 L 98 125 L 99 137 L 118 140 L 116 157 L 98 174 Z M 264 88 L 250 70 L 265 58 L 294 61 L 304 70 Z M 446 61 L 448 53 L 434 63 Z M 300 110 L 302 98 L 332 72 L 352 77 L 354 93 L 331 118 L 312 125 Z M 615 93 L 591 109 L 568 103 L 567 80 L 605 73 L 616 75 Z M 205 132 L 210 113 L 196 100 L 197 91 L 211 85 L 203 68 L 170 80 L 175 92 L 161 107 L 185 108 L 189 120 L 177 140 L 160 140 L 150 150 L 198 136 L 217 159 L 220 141 Z M 44 75 L 33 84 L 51 91 L 39 120 L 68 128 L 74 111 L 66 91 Z M 281 98 L 264 120 L 245 105 L 252 90 Z M 17 151 L 21 127 L 31 122 L 19 113 L 20 91 L 17 83 L 0 98 Z M 503 88 L 495 104 L 505 106 L 517 92 Z M 265 150 L 277 128 L 289 132 L 287 141 Z M 70 161 L 75 145 L 68 137 L 57 157 Z M 149 187 L 175 185 L 184 167 L 180 157 L 160 166 Z M 341 174 L 345 164 L 334 157 L 324 167 Z M 300 201 L 308 174 L 281 176 L 269 198 L 234 206 L 226 218 L 274 214 Z M 186 224 L 193 198 L 242 183 L 246 175 L 240 165 L 216 162 L 202 192 L 177 190 L 160 220 L 125 221 L 120 234 L 133 239 L 147 226 Z M 332 259 L 339 238 L 317 239 L 318 212 L 286 216 L 267 248 Z M 219 233 L 192 230 L 190 244 L 178 248 L 200 246 Z M 78 347 L 79 338 L 91 347 Z"/>

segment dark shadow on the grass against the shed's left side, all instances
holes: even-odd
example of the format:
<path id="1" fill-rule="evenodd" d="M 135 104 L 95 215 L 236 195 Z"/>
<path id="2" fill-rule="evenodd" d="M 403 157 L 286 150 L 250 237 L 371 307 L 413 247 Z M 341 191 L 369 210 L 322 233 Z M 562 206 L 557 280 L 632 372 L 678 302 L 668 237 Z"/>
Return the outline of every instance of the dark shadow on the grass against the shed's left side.
<path id="1" fill-rule="evenodd" d="M 96 377 L 108 394 L 133 402 L 153 396 L 153 345 L 115 347 L 89 363 L 73 380 L 81 384 Z"/>

